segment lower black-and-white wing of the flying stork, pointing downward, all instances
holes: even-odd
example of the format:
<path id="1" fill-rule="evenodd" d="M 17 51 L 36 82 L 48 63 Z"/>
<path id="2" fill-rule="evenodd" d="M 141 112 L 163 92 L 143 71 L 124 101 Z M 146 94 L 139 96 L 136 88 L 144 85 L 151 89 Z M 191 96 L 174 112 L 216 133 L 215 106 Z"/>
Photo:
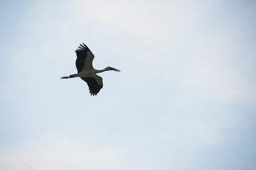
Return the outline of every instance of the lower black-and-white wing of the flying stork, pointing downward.
<path id="1" fill-rule="evenodd" d="M 89 86 L 89 91 L 92 96 L 96 96 L 96 94 L 99 93 L 101 88 L 103 87 L 103 81 L 102 78 L 98 75 L 94 74 L 92 77 L 80 77 L 82 80 L 87 82 L 87 85 Z"/>

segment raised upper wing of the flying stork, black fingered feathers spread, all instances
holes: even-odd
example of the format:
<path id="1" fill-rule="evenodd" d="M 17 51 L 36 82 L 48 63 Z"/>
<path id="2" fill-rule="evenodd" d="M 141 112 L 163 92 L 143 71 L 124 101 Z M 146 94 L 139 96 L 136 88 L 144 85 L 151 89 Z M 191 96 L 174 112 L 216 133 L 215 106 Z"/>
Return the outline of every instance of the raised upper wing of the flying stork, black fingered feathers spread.
<path id="1" fill-rule="evenodd" d="M 89 47 L 87 47 L 87 45 L 85 45 L 84 43 L 80 44 L 75 52 L 77 53 L 76 66 L 78 73 L 93 69 L 92 61 L 94 60 L 94 54 L 92 54 L 91 50 L 89 49 Z"/>

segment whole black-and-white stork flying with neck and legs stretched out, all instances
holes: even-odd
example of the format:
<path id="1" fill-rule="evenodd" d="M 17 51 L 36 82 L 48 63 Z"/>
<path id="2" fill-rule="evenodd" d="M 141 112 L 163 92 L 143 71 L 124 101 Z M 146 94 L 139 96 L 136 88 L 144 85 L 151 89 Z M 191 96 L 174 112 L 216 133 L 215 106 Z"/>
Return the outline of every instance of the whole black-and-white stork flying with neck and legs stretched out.
<path id="1" fill-rule="evenodd" d="M 94 69 L 92 65 L 92 62 L 94 60 L 94 54 L 84 43 L 79 45 L 80 46 L 78 46 L 77 50 L 74 51 L 77 54 L 77 74 L 72 74 L 68 77 L 61 77 L 60 79 L 80 77 L 82 80 L 87 82 L 87 85 L 89 86 L 89 93 L 91 94 L 91 96 L 96 96 L 103 87 L 102 77 L 99 77 L 97 74 L 110 70 L 116 72 L 121 71 L 113 67 L 106 67 L 105 69 Z"/>

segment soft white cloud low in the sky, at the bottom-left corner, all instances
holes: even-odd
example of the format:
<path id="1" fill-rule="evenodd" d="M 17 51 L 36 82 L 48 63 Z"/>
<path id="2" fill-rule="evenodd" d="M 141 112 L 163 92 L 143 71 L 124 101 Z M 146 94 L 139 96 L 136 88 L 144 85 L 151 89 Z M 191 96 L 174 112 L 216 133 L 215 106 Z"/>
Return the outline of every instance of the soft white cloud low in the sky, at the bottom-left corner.
<path id="1" fill-rule="evenodd" d="M 94 147 L 86 140 L 48 136 L 1 149 L 0 168 L 14 169 L 118 169 L 122 153 Z"/>

